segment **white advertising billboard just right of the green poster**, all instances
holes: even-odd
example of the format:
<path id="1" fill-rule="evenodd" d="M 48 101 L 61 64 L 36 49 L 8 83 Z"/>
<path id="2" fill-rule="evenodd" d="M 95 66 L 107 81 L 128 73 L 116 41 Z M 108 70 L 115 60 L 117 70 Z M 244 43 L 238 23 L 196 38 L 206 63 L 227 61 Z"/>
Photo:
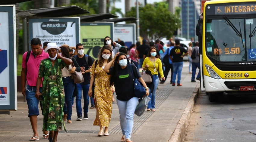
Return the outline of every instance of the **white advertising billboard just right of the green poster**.
<path id="1" fill-rule="evenodd" d="M 128 48 L 131 44 L 135 44 L 135 26 L 136 24 L 115 24 L 114 27 L 114 41 L 118 39 L 125 42 L 125 46 Z"/>

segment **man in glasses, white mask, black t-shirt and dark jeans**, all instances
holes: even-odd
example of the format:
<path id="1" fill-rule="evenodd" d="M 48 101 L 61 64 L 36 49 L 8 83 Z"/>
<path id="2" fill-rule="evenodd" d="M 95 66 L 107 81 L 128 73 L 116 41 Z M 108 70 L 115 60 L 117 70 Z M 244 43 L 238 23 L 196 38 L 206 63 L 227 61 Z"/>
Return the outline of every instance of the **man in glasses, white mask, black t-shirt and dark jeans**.
<path id="1" fill-rule="evenodd" d="M 84 45 L 78 43 L 76 45 L 77 55 L 74 56 L 78 65 L 81 67 L 81 72 L 84 77 L 84 82 L 77 84 L 78 94 L 76 96 L 76 109 L 77 109 L 77 120 L 82 120 L 82 107 L 81 107 L 81 98 L 82 98 L 82 89 L 84 97 L 84 119 L 88 118 L 88 107 L 89 107 L 89 96 L 88 91 L 90 87 L 90 66 L 93 65 L 93 59 L 91 56 L 84 54 Z M 88 57 L 88 63 L 86 58 Z"/>

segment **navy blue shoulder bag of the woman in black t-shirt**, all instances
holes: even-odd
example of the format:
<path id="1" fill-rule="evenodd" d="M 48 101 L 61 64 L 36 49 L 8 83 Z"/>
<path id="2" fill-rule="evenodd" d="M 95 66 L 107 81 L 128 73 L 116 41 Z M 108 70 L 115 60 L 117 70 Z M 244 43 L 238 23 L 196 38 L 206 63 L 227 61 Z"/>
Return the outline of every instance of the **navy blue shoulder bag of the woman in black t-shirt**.
<path id="1" fill-rule="evenodd" d="M 144 95 L 146 94 L 146 89 L 144 88 L 142 83 L 137 78 L 134 77 L 131 66 L 133 65 L 130 65 L 130 68 L 131 68 L 131 73 L 133 77 L 134 94 L 138 98 L 144 97 Z"/>

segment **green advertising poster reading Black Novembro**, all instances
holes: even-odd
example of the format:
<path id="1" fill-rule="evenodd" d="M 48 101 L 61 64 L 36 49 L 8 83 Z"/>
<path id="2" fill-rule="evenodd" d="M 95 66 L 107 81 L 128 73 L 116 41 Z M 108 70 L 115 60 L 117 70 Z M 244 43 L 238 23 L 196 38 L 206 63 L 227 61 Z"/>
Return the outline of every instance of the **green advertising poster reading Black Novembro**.
<path id="1" fill-rule="evenodd" d="M 81 23 L 81 42 L 84 45 L 84 54 L 96 59 L 104 44 L 104 38 L 109 36 L 113 39 L 113 27 L 113 22 Z"/>

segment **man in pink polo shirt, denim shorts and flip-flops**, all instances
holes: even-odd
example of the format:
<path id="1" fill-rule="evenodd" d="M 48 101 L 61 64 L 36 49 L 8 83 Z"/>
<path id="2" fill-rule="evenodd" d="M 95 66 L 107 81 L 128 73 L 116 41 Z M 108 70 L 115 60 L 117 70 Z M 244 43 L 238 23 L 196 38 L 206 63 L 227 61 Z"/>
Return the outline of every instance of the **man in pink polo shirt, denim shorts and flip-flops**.
<path id="1" fill-rule="evenodd" d="M 28 106 L 28 117 L 33 129 L 33 137 L 30 140 L 39 140 L 37 133 L 37 116 L 39 115 L 38 101 L 36 94 L 36 81 L 41 60 L 48 58 L 48 54 L 42 49 L 40 39 L 33 38 L 30 43 L 31 51 L 25 52 L 22 57 L 21 84 L 22 94 L 26 97 Z M 27 54 L 30 54 L 27 56 Z M 27 87 L 25 87 L 27 81 Z M 42 84 L 41 84 L 42 88 Z M 40 89 L 42 92 L 42 90 Z M 42 110 L 42 104 L 40 101 Z M 43 111 L 42 111 L 43 112 Z M 48 138 L 48 131 L 43 132 L 43 137 Z"/>

